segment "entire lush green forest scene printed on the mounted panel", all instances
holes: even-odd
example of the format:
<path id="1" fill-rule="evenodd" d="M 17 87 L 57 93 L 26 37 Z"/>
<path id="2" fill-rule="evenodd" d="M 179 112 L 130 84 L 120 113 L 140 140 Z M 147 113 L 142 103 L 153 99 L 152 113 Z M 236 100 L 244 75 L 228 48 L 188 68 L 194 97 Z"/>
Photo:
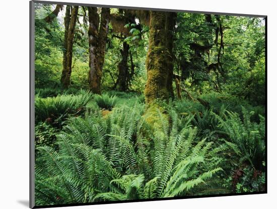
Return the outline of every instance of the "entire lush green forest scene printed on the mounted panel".
<path id="1" fill-rule="evenodd" d="M 35 3 L 35 204 L 264 192 L 265 19 Z"/>

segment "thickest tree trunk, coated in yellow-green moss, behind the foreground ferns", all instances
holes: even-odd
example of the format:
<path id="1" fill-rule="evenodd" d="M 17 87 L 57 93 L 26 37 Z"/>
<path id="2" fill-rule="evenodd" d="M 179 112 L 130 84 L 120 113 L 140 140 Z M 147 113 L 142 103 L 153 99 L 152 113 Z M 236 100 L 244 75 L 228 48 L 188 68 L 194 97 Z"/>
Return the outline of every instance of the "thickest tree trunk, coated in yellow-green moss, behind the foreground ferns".
<path id="1" fill-rule="evenodd" d="M 150 12 L 149 50 L 146 59 L 148 78 L 145 89 L 147 103 L 155 99 L 168 100 L 173 95 L 173 17 L 172 13 Z"/>

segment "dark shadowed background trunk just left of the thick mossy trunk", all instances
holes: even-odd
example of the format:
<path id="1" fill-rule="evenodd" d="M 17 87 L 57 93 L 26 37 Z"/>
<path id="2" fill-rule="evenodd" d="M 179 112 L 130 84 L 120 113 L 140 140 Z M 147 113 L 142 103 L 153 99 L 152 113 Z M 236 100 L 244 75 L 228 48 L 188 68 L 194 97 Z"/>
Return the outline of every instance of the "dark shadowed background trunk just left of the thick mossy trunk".
<path id="1" fill-rule="evenodd" d="M 123 49 L 120 49 L 122 56 L 121 61 L 119 62 L 118 77 L 117 77 L 117 89 L 119 91 L 126 91 L 128 89 L 128 76 L 129 76 L 129 67 L 128 67 L 128 54 L 129 54 L 129 45 L 123 41 Z"/>

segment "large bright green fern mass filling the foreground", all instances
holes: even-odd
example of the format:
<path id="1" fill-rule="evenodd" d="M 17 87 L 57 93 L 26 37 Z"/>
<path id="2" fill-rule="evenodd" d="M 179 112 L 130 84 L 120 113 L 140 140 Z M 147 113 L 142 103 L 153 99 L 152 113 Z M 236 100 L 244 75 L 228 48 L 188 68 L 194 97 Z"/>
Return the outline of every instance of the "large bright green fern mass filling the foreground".
<path id="1" fill-rule="evenodd" d="M 71 118 L 57 136 L 58 150 L 38 148 L 36 204 L 193 195 L 192 188 L 221 170 L 203 169 L 212 148 L 205 139 L 194 143 L 196 128 L 179 130 L 175 112 L 163 120 L 156 110 L 160 125 L 153 130 L 144 109 L 122 106 L 105 119 L 100 112 Z"/>

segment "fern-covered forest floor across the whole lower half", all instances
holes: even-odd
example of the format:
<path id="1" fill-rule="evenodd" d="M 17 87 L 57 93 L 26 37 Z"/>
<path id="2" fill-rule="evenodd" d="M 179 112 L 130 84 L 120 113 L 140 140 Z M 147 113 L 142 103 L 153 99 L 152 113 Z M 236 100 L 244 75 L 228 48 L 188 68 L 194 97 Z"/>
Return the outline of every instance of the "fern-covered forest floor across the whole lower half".
<path id="1" fill-rule="evenodd" d="M 220 93 L 148 107 L 135 92 L 54 94 L 35 98 L 37 205 L 264 190 L 262 106 Z"/>

